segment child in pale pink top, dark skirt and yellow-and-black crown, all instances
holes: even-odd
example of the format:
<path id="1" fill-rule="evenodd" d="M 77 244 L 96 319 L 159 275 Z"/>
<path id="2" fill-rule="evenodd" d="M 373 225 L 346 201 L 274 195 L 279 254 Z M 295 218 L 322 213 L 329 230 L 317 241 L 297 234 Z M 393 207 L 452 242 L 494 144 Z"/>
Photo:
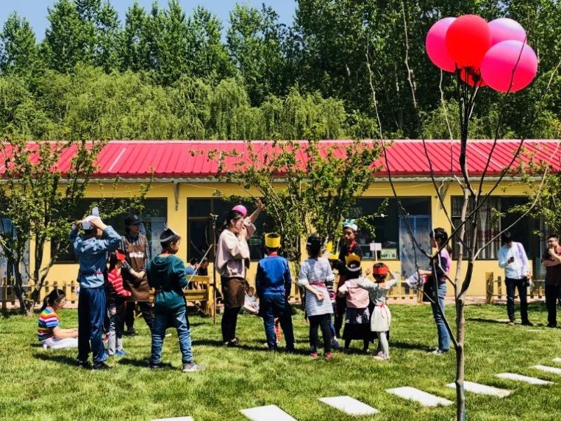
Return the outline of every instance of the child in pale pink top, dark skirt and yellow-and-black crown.
<path id="1" fill-rule="evenodd" d="M 339 297 L 346 298 L 344 352 L 349 352 L 351 340 L 363 340 L 363 352 L 368 352 L 370 342 L 370 312 L 368 311 L 368 291 L 360 288 L 356 281 L 360 276 L 360 256 L 352 253 L 345 256 L 347 279 L 337 290 Z"/>

